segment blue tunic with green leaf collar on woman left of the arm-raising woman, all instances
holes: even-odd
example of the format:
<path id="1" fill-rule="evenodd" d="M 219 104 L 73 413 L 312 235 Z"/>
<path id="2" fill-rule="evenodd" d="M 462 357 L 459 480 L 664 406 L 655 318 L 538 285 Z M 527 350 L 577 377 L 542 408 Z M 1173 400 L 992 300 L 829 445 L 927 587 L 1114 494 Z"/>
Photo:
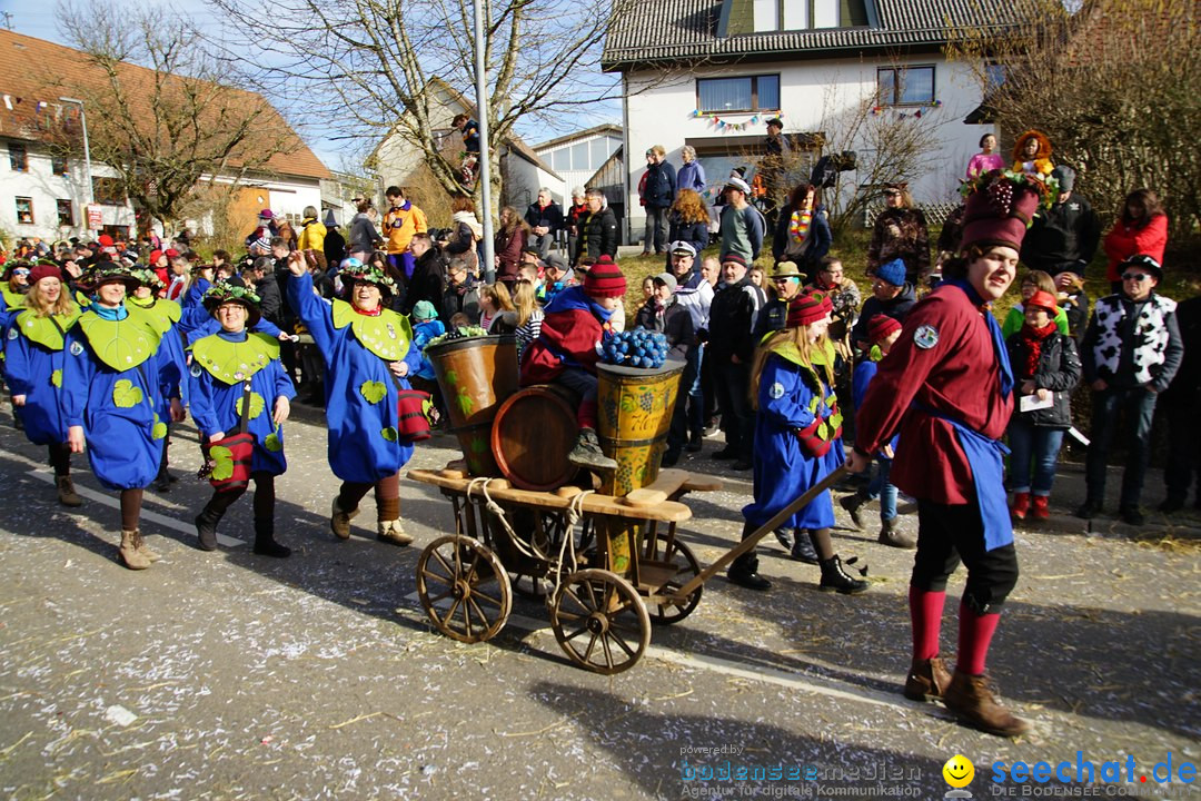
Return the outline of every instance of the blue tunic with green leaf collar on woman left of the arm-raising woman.
<path id="1" fill-rule="evenodd" d="M 271 422 L 275 399 L 297 395 L 280 364 L 280 343 L 265 334 L 220 331 L 192 348 L 189 370 L 192 419 L 205 437 L 234 434 L 240 422 L 243 383 L 250 377 L 250 412 L 246 430 L 255 435 L 250 472 L 279 476 L 288 468 L 283 458 L 283 428 Z M 232 371 L 232 372 L 231 372 Z M 241 376 L 240 378 L 238 376 Z M 274 440 L 268 440 L 275 435 Z"/>

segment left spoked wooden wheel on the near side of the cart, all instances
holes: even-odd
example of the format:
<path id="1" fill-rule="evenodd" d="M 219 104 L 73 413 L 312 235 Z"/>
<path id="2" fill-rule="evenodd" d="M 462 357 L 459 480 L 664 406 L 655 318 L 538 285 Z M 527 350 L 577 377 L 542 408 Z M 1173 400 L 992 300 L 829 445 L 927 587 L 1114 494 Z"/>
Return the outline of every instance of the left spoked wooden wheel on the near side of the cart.
<path id="1" fill-rule="evenodd" d="M 417 560 L 417 594 L 434 626 L 461 642 L 483 642 L 509 618 L 509 576 L 496 554 L 471 537 L 450 534 Z"/>

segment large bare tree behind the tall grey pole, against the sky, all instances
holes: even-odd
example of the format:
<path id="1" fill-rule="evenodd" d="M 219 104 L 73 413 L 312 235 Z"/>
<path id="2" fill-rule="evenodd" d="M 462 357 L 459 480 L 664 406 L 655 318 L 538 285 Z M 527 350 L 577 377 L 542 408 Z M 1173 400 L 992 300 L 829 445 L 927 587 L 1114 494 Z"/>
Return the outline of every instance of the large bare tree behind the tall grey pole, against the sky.
<path id="1" fill-rule="evenodd" d="M 579 114 L 616 96 L 598 78 L 600 44 L 633 0 L 485 0 L 484 60 L 492 142 L 518 120 Z M 229 53 L 255 53 L 264 88 L 303 92 L 305 113 L 374 145 L 399 136 L 449 195 L 467 195 L 459 151 L 448 154 L 444 89 L 474 97 L 472 6 L 466 0 L 215 0 L 246 34 Z M 229 46 L 231 43 L 227 43 Z M 264 53 L 265 50 L 265 53 Z M 471 101 L 464 101 L 471 106 Z M 458 141 L 458 135 L 454 135 Z M 366 150 L 368 148 L 364 148 Z M 500 197 L 500 168 L 491 181 Z"/>

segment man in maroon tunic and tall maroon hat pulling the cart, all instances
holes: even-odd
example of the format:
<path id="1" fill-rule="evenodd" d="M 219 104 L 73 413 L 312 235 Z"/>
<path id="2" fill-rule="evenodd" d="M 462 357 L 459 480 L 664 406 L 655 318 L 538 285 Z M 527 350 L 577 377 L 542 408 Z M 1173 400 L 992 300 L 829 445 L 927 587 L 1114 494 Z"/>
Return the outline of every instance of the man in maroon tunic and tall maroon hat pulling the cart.
<path id="1" fill-rule="evenodd" d="M 1027 730 L 985 682 L 1000 606 L 1017 584 L 1017 556 L 1002 476 L 1014 378 L 990 305 L 1014 281 L 1038 195 L 994 178 L 967 202 L 963 253 L 949 276 L 904 322 L 855 414 L 852 472 L 900 432 L 891 480 L 918 498 L 918 555 L 909 584 L 913 664 L 904 695 L 942 699 L 962 721 L 991 734 Z M 946 580 L 968 568 L 960 604 L 955 675 L 938 656 Z"/>

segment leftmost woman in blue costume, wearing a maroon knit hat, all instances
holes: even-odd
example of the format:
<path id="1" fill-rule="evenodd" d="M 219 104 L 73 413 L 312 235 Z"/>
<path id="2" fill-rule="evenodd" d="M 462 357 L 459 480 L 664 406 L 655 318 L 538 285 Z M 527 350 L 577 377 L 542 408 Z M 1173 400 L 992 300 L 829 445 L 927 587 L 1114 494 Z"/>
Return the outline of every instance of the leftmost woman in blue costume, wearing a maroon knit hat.
<path id="1" fill-rule="evenodd" d="M 13 315 L 6 335 L 8 389 L 25 436 L 49 452 L 59 503 L 77 507 L 83 501 L 71 483 L 71 448 L 62 416 L 62 348 L 79 307 L 54 264 L 35 265 L 29 283 L 24 309 Z"/>

